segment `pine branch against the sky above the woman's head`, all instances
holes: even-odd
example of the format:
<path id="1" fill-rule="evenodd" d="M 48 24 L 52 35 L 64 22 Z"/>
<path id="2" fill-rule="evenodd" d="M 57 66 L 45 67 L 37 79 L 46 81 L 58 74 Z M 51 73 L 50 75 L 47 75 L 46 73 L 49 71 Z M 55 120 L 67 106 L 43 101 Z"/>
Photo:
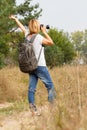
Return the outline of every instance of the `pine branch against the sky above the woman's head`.
<path id="1" fill-rule="evenodd" d="M 23 4 L 17 6 L 17 15 L 19 15 L 21 22 L 28 26 L 28 22 L 32 18 L 38 19 L 41 16 L 42 9 L 39 9 L 39 4 L 32 5 L 32 0 L 25 0 Z"/>

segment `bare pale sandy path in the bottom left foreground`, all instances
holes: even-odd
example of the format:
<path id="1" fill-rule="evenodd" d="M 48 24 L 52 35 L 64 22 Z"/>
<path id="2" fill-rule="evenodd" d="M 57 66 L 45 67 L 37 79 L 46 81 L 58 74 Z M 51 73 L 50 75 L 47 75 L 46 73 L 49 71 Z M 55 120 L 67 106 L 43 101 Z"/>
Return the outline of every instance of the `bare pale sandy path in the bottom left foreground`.
<path id="1" fill-rule="evenodd" d="M 24 111 L 14 116 L 4 118 L 0 122 L 0 130 L 33 130 L 32 127 L 34 125 L 34 118 L 31 116 L 30 111 Z"/>

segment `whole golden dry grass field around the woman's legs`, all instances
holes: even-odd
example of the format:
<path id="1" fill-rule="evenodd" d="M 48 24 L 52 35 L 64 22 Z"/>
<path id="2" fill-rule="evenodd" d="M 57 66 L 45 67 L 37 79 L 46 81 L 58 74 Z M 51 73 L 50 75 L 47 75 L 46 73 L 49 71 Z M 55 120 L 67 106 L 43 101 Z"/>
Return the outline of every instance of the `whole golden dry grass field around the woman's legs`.
<path id="1" fill-rule="evenodd" d="M 56 103 L 49 107 L 47 91 L 39 82 L 36 103 L 42 106 L 43 115 L 40 118 L 30 116 L 30 123 L 25 109 L 19 117 L 15 114 L 16 120 L 23 118 L 20 130 L 87 130 L 87 66 L 67 65 L 54 68 L 50 73 L 57 93 Z M 27 98 L 27 86 L 28 75 L 19 68 L 0 70 L 0 102 Z"/>

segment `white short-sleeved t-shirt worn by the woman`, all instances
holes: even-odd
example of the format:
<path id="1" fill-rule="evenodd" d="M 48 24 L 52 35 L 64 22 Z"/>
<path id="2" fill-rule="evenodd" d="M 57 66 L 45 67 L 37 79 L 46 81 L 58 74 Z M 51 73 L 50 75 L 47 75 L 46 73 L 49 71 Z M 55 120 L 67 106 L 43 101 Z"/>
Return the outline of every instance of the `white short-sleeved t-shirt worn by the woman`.
<path id="1" fill-rule="evenodd" d="M 27 36 L 27 34 L 25 34 L 25 37 L 26 36 Z M 33 42 L 33 47 L 34 47 L 34 51 L 35 51 L 35 55 L 36 55 L 37 59 L 38 59 L 39 54 L 40 54 L 43 38 L 44 37 L 42 35 L 37 34 L 37 36 L 35 37 L 34 42 Z M 27 39 L 30 40 L 29 37 Z M 44 47 L 42 47 L 42 51 L 41 51 L 40 58 L 39 58 L 39 61 L 38 61 L 38 66 L 46 66 L 46 60 L 45 60 L 45 55 L 44 55 Z"/>

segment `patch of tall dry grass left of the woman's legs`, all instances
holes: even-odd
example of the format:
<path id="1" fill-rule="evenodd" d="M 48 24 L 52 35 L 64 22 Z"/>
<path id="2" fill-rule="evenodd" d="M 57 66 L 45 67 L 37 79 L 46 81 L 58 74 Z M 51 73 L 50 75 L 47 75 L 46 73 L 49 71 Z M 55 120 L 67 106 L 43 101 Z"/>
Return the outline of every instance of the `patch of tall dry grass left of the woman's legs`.
<path id="1" fill-rule="evenodd" d="M 27 75 L 17 67 L 0 70 L 0 102 L 20 100 L 26 96 Z"/>

